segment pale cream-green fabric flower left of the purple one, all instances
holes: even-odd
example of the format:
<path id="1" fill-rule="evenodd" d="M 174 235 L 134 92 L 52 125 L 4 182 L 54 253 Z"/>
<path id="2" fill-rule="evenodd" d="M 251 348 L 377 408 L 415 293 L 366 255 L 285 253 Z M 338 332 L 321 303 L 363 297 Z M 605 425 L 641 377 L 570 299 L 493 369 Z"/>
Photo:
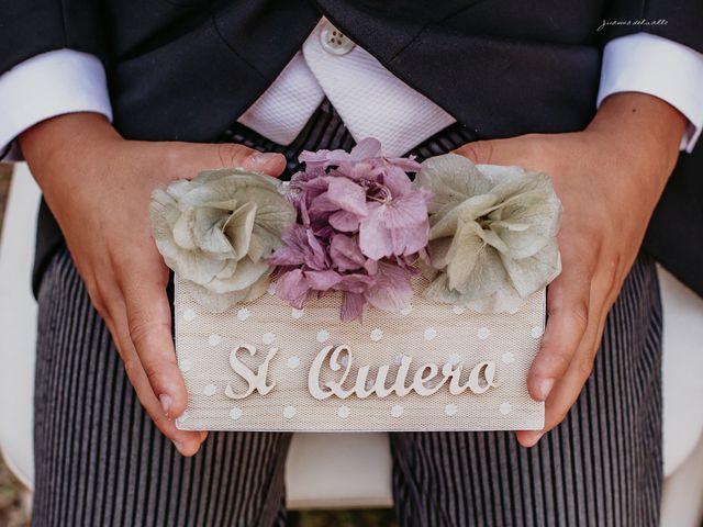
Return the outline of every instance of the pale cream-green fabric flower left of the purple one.
<path id="1" fill-rule="evenodd" d="M 149 212 L 164 261 L 214 312 L 264 294 L 268 257 L 295 221 L 278 180 L 243 169 L 203 171 L 156 189 Z"/>

